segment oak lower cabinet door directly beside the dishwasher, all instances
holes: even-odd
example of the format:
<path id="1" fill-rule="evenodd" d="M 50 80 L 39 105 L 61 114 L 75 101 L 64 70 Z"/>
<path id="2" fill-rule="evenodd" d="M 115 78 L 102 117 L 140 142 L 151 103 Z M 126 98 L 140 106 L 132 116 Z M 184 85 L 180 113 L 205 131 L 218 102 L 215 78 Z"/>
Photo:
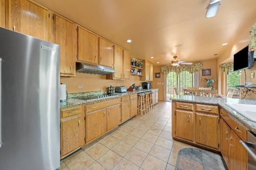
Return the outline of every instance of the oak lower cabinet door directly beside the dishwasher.
<path id="1" fill-rule="evenodd" d="M 241 139 L 231 130 L 230 132 L 230 170 L 245 170 L 246 169 L 246 150 L 240 144 Z"/>

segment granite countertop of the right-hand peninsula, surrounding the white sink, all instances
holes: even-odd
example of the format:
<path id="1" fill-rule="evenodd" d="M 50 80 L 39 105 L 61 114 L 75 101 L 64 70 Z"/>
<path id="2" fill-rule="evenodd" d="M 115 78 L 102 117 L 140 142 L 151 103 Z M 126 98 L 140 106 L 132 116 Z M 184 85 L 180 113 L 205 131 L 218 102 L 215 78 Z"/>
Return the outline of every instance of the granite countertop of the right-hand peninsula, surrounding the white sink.
<path id="1" fill-rule="evenodd" d="M 202 96 L 185 96 L 185 95 L 174 95 L 170 98 L 172 101 L 185 101 L 185 102 L 196 102 L 196 103 L 207 103 L 212 105 L 219 105 L 224 110 L 226 110 L 230 116 L 236 120 L 240 125 L 244 125 L 251 131 L 256 133 L 256 123 L 250 121 L 237 111 L 228 107 L 225 103 L 236 103 L 236 104 L 246 104 L 246 105 L 256 105 L 256 100 L 249 99 L 232 99 L 232 98 L 220 98 L 220 97 L 202 97 Z"/>

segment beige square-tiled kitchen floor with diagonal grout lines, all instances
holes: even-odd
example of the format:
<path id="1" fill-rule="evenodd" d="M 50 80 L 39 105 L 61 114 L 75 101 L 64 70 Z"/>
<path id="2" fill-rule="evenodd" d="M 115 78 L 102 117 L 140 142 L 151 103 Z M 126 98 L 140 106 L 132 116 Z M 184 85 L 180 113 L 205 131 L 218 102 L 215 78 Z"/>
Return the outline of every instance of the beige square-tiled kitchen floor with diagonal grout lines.
<path id="1" fill-rule="evenodd" d="M 179 150 L 192 146 L 172 140 L 171 103 L 159 102 L 85 146 L 60 163 L 61 170 L 172 170 Z"/>

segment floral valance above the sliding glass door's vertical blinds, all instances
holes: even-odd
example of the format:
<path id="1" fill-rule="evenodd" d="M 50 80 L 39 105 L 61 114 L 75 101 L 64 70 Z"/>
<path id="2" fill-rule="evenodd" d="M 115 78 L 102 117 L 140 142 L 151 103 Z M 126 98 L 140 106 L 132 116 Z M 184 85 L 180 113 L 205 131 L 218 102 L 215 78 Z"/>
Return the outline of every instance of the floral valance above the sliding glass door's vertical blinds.
<path id="1" fill-rule="evenodd" d="M 196 64 L 192 64 L 192 65 L 180 65 L 180 67 L 174 67 L 172 65 L 167 65 L 164 67 L 161 67 L 161 71 L 162 73 L 170 73 L 172 71 L 176 72 L 177 74 L 179 74 L 182 71 L 188 71 L 190 73 L 195 73 L 199 70 L 202 69 L 202 63 L 196 63 Z"/>

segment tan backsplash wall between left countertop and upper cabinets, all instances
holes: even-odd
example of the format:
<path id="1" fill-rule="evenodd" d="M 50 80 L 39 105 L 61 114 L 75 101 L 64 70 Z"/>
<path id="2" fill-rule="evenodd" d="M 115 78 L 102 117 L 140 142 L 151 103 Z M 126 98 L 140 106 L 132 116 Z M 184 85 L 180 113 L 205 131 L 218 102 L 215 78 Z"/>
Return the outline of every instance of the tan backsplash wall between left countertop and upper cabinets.
<path id="1" fill-rule="evenodd" d="M 60 77 L 60 83 L 66 84 L 68 93 L 80 93 L 88 91 L 106 90 L 110 85 L 116 87 L 130 87 L 133 83 L 141 85 L 140 77 L 130 75 L 130 80 L 106 80 L 106 75 L 93 75 L 86 73 L 76 73 L 76 77 Z M 82 89 L 78 89 L 82 85 Z"/>

